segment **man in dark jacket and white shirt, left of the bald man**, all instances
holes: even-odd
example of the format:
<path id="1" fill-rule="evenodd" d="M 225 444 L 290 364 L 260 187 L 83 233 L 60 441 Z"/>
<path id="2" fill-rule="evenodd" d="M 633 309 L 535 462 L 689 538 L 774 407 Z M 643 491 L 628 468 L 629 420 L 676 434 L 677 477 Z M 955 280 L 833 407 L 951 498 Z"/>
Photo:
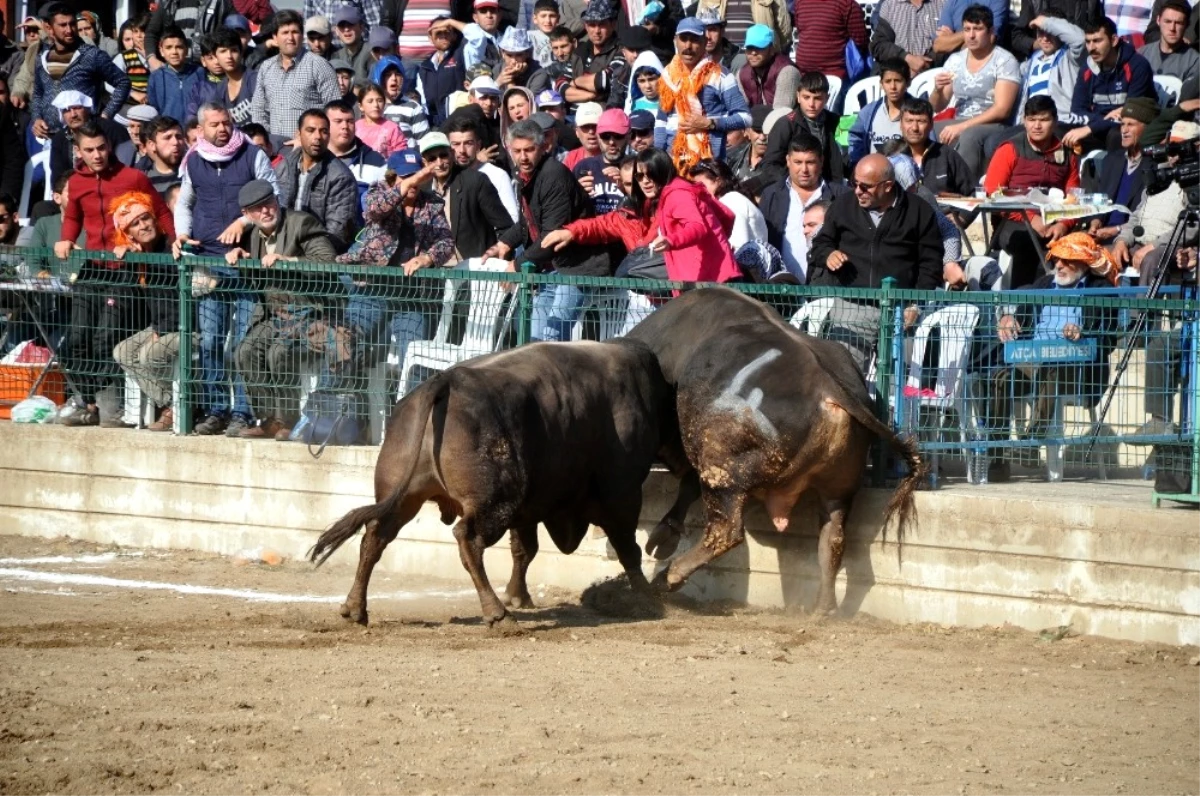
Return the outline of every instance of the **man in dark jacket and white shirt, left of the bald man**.
<path id="1" fill-rule="evenodd" d="M 758 209 L 767 220 L 767 243 L 784 257 L 784 267 L 804 281 L 809 274 L 809 241 L 804 237 L 804 211 L 829 203 L 848 188 L 821 179 L 821 142 L 800 133 L 787 146 L 787 179 L 762 192 Z"/>

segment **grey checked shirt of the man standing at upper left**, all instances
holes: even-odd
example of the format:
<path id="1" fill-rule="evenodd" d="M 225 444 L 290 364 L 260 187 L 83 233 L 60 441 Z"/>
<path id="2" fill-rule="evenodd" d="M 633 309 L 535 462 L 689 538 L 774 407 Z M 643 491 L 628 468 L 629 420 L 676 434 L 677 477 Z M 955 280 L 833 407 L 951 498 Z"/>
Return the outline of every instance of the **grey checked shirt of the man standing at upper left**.
<path id="1" fill-rule="evenodd" d="M 334 67 L 325 59 L 302 49 L 292 61 L 292 68 L 284 70 L 282 58 L 274 55 L 259 67 L 250 114 L 272 134 L 290 139 L 296 134 L 300 114 L 340 100 L 342 92 Z"/>

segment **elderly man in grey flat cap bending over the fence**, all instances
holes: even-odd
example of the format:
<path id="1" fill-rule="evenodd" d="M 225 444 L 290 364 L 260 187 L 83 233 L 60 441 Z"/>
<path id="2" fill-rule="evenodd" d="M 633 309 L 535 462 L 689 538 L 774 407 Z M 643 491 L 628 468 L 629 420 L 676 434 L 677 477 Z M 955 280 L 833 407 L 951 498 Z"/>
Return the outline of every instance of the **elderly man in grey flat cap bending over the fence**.
<path id="1" fill-rule="evenodd" d="M 320 222 L 302 210 L 281 207 L 270 182 L 247 182 L 238 192 L 238 204 L 251 226 L 242 233 L 238 247 L 226 253 L 230 265 L 253 259 L 270 269 L 281 262 L 329 263 L 334 259 L 334 245 Z M 288 289 L 289 283 L 295 283 L 294 274 L 286 273 L 276 280 L 266 271 L 263 279 L 264 312 L 234 354 L 256 418 L 256 423 L 240 429 L 238 436 L 283 441 L 300 418 L 300 357 L 306 348 L 308 323 L 320 307 Z M 313 285 L 314 279 L 314 274 L 305 275 L 310 295 L 319 289 Z"/>

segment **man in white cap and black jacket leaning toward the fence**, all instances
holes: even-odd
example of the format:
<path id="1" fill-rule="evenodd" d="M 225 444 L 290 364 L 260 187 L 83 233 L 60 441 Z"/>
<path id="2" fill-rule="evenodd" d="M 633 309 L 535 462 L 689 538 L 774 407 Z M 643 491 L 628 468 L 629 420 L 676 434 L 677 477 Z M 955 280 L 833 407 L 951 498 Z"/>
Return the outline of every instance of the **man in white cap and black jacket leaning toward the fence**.
<path id="1" fill-rule="evenodd" d="M 479 161 L 460 166 L 444 133 L 428 133 L 418 145 L 432 178 L 428 187 L 448 205 L 455 258 L 506 259 L 521 243 L 521 225 L 504 208 L 491 180 L 479 173 Z"/>

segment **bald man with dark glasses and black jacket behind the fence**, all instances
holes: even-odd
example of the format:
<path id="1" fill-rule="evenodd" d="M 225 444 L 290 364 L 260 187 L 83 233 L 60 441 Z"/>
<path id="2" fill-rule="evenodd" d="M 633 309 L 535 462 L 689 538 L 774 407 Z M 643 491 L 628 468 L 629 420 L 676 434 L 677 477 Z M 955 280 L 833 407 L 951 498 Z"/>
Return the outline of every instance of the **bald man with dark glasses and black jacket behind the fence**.
<path id="1" fill-rule="evenodd" d="M 932 291 L 942 285 L 942 235 L 928 202 L 895 184 L 883 155 L 854 167 L 854 192 L 833 201 L 812 240 L 809 285 L 882 287 L 888 276 L 901 289 Z M 916 323 L 914 307 L 905 324 Z M 846 345 L 864 372 L 878 334 L 877 306 L 838 299 L 828 316 L 829 337 Z"/>

